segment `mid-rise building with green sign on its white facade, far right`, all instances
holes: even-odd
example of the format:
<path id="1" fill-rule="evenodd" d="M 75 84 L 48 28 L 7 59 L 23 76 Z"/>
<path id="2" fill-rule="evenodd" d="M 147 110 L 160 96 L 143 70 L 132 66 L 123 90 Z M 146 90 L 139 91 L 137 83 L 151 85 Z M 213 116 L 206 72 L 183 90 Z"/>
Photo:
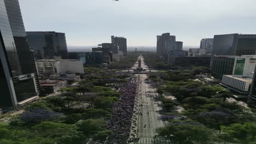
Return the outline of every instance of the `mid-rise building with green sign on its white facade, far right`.
<path id="1" fill-rule="evenodd" d="M 251 76 L 256 56 L 214 56 L 212 75 L 222 79 L 223 75 Z"/>

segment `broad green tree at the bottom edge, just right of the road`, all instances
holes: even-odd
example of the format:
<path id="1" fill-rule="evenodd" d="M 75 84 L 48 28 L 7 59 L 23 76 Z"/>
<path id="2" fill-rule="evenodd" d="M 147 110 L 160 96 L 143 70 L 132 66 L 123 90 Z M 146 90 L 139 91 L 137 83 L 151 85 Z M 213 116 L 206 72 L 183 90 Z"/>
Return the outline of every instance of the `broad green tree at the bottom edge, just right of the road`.
<path id="1" fill-rule="evenodd" d="M 156 129 L 158 137 L 175 144 L 214 143 L 216 136 L 214 131 L 200 123 L 171 123 L 165 127 Z"/>

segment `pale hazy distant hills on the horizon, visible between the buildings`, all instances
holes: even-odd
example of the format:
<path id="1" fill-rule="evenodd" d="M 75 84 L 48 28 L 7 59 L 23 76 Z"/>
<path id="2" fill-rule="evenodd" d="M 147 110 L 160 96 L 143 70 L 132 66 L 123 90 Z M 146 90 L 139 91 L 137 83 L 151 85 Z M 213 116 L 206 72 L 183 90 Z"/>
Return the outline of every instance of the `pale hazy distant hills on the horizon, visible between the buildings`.
<path id="1" fill-rule="evenodd" d="M 68 52 L 91 52 L 92 47 L 98 47 L 98 46 L 97 45 L 68 46 Z M 156 51 L 156 46 L 127 46 L 127 51 L 135 51 L 135 48 L 137 48 L 137 51 Z M 199 46 L 191 46 L 191 45 L 183 46 L 183 50 L 196 49 L 196 48 L 199 48 Z"/>

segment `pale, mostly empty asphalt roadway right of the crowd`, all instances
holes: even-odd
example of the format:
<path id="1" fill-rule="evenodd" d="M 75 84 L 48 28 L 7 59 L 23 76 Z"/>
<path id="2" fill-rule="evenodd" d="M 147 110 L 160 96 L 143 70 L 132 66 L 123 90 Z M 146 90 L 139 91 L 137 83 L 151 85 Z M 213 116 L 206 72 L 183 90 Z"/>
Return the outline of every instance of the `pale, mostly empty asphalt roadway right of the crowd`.
<path id="1" fill-rule="evenodd" d="M 142 68 L 148 69 L 143 62 L 143 57 L 141 59 Z M 155 129 L 164 126 L 164 122 L 158 119 L 158 116 L 160 116 L 159 111 L 162 109 L 161 102 L 155 100 L 158 97 L 158 93 L 156 93 L 156 88 L 152 88 L 147 83 L 147 75 L 137 74 L 137 76 L 141 79 L 139 87 L 139 105 L 141 105 L 139 113 L 141 115 L 138 117 L 138 144 L 159 143 L 154 142 L 154 136 Z"/>

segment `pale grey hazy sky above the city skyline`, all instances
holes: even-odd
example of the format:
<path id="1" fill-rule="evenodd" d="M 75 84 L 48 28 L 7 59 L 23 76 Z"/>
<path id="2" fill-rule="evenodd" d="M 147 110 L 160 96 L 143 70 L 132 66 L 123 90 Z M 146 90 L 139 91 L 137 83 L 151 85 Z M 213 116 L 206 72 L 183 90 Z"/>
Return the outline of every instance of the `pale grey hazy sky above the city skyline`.
<path id="1" fill-rule="evenodd" d="M 256 33 L 255 0 L 19 0 L 26 31 L 66 33 L 68 45 L 155 46 L 170 32 L 183 45 L 214 34 Z"/>

